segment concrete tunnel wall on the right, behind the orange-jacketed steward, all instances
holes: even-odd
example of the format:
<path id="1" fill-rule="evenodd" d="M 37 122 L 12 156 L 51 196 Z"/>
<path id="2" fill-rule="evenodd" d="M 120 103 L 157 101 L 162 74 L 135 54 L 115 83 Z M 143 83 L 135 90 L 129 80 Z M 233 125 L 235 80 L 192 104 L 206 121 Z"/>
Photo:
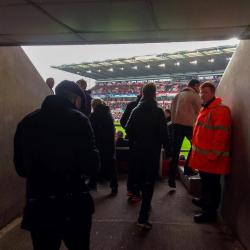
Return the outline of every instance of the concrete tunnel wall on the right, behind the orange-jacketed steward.
<path id="1" fill-rule="evenodd" d="M 221 213 L 250 249 L 250 41 L 241 41 L 216 95 L 232 112 L 231 174 L 225 176 Z"/>

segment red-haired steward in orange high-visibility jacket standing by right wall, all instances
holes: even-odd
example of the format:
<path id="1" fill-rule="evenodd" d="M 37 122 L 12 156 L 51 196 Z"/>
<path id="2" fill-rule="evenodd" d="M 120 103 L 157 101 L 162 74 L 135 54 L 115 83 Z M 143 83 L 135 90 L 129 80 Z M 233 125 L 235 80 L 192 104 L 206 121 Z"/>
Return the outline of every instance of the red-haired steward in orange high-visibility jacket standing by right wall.
<path id="1" fill-rule="evenodd" d="M 203 213 L 195 215 L 194 220 L 209 222 L 217 218 L 221 175 L 230 173 L 231 114 L 221 99 L 215 97 L 213 83 L 203 83 L 200 91 L 204 104 L 194 126 L 189 166 L 199 170 L 202 186 L 202 197 L 192 201 L 203 209 Z"/>

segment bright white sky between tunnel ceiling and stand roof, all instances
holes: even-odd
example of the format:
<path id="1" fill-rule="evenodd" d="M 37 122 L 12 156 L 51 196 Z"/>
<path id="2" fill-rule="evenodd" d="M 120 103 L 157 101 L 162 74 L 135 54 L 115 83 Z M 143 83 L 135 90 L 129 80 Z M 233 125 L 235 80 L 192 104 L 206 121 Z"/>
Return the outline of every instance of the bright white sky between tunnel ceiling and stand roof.
<path id="1" fill-rule="evenodd" d="M 55 86 L 63 80 L 77 81 L 84 78 L 88 88 L 95 83 L 93 79 L 76 74 L 53 69 L 51 66 L 62 64 L 104 61 L 107 59 L 130 58 L 134 56 L 174 53 L 178 51 L 195 51 L 201 48 L 238 44 L 237 39 L 207 42 L 179 42 L 179 43 L 144 43 L 144 44 L 107 44 L 107 45 L 68 45 L 68 46 L 23 46 L 44 80 L 49 77 L 55 79 Z M 55 87 L 54 86 L 54 87 Z"/>

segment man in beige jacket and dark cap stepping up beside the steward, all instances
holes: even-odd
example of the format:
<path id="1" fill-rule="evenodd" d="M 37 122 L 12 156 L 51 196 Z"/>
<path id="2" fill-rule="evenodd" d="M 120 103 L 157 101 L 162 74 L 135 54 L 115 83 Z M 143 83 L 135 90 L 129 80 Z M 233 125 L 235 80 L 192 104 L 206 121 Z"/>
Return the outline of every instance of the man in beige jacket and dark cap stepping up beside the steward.
<path id="1" fill-rule="evenodd" d="M 193 135 L 193 126 L 201 109 L 202 100 L 199 96 L 200 82 L 192 79 L 188 83 L 188 87 L 178 93 L 171 105 L 171 122 L 172 122 L 172 138 L 173 138 L 173 159 L 169 164 L 169 179 L 170 187 L 175 188 L 175 175 L 179 160 L 181 146 L 185 137 L 191 140 Z M 189 156 L 184 166 L 184 174 L 194 174 L 191 168 L 188 167 Z"/>

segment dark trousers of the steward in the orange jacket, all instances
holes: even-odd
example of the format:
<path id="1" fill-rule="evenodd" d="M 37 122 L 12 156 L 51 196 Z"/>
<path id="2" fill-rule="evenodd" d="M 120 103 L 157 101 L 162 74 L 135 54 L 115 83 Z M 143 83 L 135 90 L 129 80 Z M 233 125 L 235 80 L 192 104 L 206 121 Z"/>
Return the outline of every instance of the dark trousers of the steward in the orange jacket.
<path id="1" fill-rule="evenodd" d="M 212 174 L 200 171 L 202 197 L 204 204 L 202 209 L 208 212 L 214 212 L 219 207 L 221 199 L 220 174 Z"/>

